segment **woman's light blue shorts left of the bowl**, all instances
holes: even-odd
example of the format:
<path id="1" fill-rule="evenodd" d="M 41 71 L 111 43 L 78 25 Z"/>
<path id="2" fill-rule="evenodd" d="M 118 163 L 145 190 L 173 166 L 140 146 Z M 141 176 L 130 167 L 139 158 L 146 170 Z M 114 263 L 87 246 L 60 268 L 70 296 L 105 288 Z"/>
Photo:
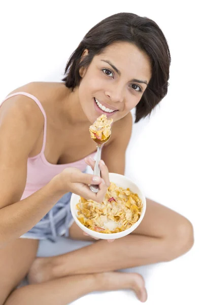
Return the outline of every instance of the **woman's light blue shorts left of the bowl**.
<path id="1" fill-rule="evenodd" d="M 39 223 L 20 238 L 49 239 L 55 242 L 57 236 L 68 237 L 69 228 L 74 223 L 70 206 L 71 195 L 71 192 L 63 195 Z"/>

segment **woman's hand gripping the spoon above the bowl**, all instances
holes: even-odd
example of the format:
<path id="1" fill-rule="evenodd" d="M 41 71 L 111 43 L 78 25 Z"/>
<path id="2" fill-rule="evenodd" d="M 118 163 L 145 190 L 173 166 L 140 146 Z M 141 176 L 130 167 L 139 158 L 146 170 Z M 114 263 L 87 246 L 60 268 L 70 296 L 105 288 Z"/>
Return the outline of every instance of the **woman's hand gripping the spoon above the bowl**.
<path id="1" fill-rule="evenodd" d="M 86 163 L 88 163 L 88 158 Z M 68 167 L 60 174 L 54 177 L 58 190 L 64 193 L 72 192 L 85 199 L 92 199 L 97 202 L 102 202 L 110 186 L 109 171 L 103 161 L 99 162 L 101 177 L 86 174 L 81 172 L 78 168 Z M 89 185 L 99 185 L 99 191 L 93 193 Z"/>

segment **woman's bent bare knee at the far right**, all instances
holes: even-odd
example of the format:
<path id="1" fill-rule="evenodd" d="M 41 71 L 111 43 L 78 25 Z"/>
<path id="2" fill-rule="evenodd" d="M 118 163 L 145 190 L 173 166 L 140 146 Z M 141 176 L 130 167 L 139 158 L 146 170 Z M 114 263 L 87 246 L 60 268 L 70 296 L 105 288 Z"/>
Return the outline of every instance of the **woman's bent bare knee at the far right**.
<path id="1" fill-rule="evenodd" d="M 172 234 L 170 235 L 170 253 L 174 259 L 188 252 L 194 243 L 193 226 L 185 217 L 180 218 L 179 222 L 174 224 Z"/>

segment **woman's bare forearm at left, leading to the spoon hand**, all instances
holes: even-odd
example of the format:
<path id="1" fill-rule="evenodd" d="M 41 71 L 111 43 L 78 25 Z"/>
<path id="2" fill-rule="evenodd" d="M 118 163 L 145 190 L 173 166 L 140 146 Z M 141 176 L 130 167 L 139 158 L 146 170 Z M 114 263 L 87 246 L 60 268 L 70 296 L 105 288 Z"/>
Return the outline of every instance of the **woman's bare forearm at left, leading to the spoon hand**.
<path id="1" fill-rule="evenodd" d="M 0 209 L 0 249 L 35 226 L 65 194 L 52 179 L 29 197 Z"/>

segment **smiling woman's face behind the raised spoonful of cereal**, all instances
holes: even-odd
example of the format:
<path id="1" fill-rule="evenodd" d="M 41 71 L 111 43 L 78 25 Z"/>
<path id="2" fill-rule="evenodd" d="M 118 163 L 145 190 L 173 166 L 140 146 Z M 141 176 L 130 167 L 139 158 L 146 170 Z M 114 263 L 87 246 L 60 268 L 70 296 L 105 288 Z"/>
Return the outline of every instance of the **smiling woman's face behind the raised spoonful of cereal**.
<path id="1" fill-rule="evenodd" d="M 89 121 L 93 123 L 101 114 L 117 121 L 138 105 L 151 77 L 151 65 L 136 46 L 117 42 L 94 56 L 80 74 L 79 99 Z"/>

